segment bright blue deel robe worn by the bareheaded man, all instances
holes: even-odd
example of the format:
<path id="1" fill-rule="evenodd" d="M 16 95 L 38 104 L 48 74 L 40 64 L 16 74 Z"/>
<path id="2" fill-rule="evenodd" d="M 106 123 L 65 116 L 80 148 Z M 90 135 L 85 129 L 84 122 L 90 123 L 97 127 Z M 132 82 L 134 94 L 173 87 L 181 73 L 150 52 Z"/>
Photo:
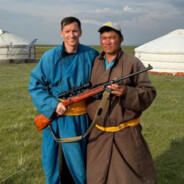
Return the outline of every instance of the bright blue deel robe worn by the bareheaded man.
<path id="1" fill-rule="evenodd" d="M 38 111 L 50 118 L 59 103 L 58 94 L 90 80 L 91 69 L 98 52 L 79 44 L 76 54 L 66 56 L 64 46 L 47 51 L 31 72 L 29 93 Z M 84 134 L 89 126 L 87 114 L 61 116 L 51 125 L 60 138 Z M 86 183 L 86 139 L 62 143 L 63 154 L 76 184 Z M 42 165 L 47 184 L 59 184 L 58 143 L 50 130 L 43 130 Z"/>

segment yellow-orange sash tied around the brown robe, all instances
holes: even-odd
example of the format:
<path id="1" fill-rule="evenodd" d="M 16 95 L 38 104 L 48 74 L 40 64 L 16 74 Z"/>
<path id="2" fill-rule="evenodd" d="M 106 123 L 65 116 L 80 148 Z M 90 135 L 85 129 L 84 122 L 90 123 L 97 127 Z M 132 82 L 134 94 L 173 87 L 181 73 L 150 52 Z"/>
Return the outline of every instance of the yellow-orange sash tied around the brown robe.
<path id="1" fill-rule="evenodd" d="M 132 127 L 132 126 L 136 126 L 140 123 L 140 118 L 137 118 L 137 119 L 133 119 L 133 120 L 130 120 L 130 121 L 127 121 L 125 123 L 121 123 L 120 125 L 118 126 L 112 126 L 112 127 L 102 127 L 98 124 L 95 125 L 95 127 L 101 131 L 104 131 L 104 132 L 117 132 L 117 131 L 120 131 L 126 127 Z"/>

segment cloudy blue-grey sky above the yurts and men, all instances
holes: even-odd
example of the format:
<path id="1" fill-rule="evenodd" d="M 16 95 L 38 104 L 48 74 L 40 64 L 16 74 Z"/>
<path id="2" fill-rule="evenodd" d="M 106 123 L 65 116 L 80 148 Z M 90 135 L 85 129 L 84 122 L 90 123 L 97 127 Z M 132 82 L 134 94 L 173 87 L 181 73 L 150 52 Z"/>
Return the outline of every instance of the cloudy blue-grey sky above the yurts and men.
<path id="1" fill-rule="evenodd" d="M 184 0 L 0 0 L 0 29 L 39 44 L 60 44 L 60 21 L 82 22 L 81 43 L 99 45 L 98 28 L 120 24 L 124 45 L 139 46 L 184 29 Z"/>

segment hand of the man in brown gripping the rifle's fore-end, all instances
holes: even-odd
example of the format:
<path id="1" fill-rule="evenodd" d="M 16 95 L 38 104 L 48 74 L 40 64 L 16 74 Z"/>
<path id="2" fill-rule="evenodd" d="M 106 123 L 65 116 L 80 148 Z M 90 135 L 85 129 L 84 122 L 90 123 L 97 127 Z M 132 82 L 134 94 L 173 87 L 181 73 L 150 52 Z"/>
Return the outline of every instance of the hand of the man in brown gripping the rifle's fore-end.
<path id="1" fill-rule="evenodd" d="M 126 86 L 125 85 L 118 85 L 118 84 L 111 84 L 108 86 L 111 89 L 111 94 L 116 96 L 124 96 L 126 94 Z"/>

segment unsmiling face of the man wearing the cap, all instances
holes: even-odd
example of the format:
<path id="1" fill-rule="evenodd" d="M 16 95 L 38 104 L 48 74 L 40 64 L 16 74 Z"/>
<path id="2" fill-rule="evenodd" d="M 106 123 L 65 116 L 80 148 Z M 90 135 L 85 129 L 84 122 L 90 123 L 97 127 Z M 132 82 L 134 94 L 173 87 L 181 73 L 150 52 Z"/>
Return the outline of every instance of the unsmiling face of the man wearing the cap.
<path id="1" fill-rule="evenodd" d="M 113 30 L 100 35 L 100 44 L 106 54 L 117 54 L 122 41 L 123 38 Z"/>

